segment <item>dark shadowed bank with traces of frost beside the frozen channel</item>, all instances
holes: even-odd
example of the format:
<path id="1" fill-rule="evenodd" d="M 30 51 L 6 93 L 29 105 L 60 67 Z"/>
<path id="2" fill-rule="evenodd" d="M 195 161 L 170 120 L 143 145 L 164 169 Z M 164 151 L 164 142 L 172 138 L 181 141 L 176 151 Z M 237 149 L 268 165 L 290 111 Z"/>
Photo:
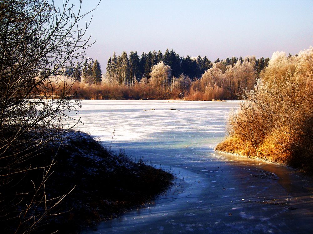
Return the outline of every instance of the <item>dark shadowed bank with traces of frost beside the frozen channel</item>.
<path id="1" fill-rule="evenodd" d="M 10 211 L 11 214 L 1 220 L 4 233 L 14 233 L 20 220 L 23 220 L 21 233 L 23 230 L 77 233 L 83 227 L 151 202 L 171 185 L 173 179 L 172 174 L 142 162 L 135 163 L 122 153 L 113 155 L 82 132 L 70 131 L 50 142 L 33 158 L 33 164 L 45 165 L 52 160 L 44 188 L 38 190 L 45 201 L 39 202 L 36 198 L 38 206 L 35 204 L 32 207 L 32 214 L 36 214 L 27 214 L 32 217 L 27 221 L 18 213 L 29 204 L 32 196 L 23 196 L 18 206 Z M 31 191 L 28 188 L 30 181 L 35 185 L 42 183 L 43 174 L 42 170 L 24 174 L 22 181 L 25 188 L 19 186 L 19 191 Z M 67 195 L 62 197 L 63 194 Z M 9 216 L 15 218 L 8 220 Z M 38 223 L 34 222 L 38 219 L 36 216 L 42 217 Z"/>

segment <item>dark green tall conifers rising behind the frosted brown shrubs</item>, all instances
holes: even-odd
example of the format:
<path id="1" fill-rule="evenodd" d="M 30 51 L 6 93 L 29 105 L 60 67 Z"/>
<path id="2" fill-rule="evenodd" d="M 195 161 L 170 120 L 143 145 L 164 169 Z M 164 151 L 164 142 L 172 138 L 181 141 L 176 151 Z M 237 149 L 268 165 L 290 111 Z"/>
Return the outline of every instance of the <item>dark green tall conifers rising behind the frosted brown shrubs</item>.
<path id="1" fill-rule="evenodd" d="M 112 58 L 110 57 L 107 62 L 106 77 L 112 82 L 117 81 L 120 85 L 131 86 L 134 84 L 134 80 L 140 81 L 141 78 L 149 79 L 152 67 L 161 61 L 171 67 L 171 76 L 178 77 L 184 74 L 192 80 L 201 78 L 203 73 L 215 63 L 221 62 L 224 66 L 229 66 L 236 64 L 238 61 L 244 62 L 242 57 L 236 58 L 233 56 L 221 61 L 218 58 L 212 63 L 207 56 L 203 58 L 200 55 L 197 58 L 192 58 L 189 55 L 180 57 L 175 51 L 169 51 L 169 49 L 164 54 L 159 50 L 158 52 L 143 52 L 141 56 L 138 56 L 137 51 L 131 51 L 129 55 L 124 51 L 121 56 L 117 56 L 114 52 Z M 268 58 L 255 59 L 255 71 L 259 74 L 267 66 L 268 61 Z"/>

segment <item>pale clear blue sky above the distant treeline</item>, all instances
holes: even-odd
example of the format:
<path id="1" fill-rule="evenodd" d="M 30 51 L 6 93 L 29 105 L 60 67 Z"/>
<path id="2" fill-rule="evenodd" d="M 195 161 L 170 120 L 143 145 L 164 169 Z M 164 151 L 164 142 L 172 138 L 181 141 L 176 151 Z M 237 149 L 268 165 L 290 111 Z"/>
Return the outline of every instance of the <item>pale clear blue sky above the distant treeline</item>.
<path id="1" fill-rule="evenodd" d="M 83 0 L 83 9 L 97 2 Z M 103 71 L 114 51 L 140 55 L 169 48 L 215 61 L 313 46 L 313 0 L 102 0 L 92 14 L 88 32 L 96 42 L 86 53 Z"/>

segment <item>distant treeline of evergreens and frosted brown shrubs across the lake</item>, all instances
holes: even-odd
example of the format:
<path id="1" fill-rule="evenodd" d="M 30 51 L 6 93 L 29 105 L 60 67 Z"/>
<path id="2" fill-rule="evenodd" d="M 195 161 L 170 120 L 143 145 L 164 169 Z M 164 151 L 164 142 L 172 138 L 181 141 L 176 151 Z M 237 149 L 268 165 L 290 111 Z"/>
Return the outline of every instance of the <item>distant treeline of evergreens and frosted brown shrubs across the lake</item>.
<path id="1" fill-rule="evenodd" d="M 79 76 L 74 80 L 81 81 L 76 87 L 83 99 L 238 99 L 243 90 L 254 87 L 268 62 L 269 58 L 234 56 L 211 62 L 207 56 L 180 57 L 169 49 L 141 56 L 137 51 L 129 55 L 124 51 L 109 58 L 102 79 L 95 78 L 97 67 L 101 74 L 95 61 L 76 72 Z"/>

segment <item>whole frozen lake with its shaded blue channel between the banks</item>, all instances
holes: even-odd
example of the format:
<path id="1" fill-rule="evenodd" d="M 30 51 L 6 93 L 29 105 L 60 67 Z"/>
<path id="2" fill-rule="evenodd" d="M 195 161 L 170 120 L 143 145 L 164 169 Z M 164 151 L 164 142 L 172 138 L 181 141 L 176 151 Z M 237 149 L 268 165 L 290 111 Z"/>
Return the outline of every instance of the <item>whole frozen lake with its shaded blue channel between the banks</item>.
<path id="1" fill-rule="evenodd" d="M 177 176 L 155 204 L 84 233 L 312 233 L 307 178 L 214 152 L 237 107 L 236 101 L 83 100 L 85 126 L 77 128 Z"/>

